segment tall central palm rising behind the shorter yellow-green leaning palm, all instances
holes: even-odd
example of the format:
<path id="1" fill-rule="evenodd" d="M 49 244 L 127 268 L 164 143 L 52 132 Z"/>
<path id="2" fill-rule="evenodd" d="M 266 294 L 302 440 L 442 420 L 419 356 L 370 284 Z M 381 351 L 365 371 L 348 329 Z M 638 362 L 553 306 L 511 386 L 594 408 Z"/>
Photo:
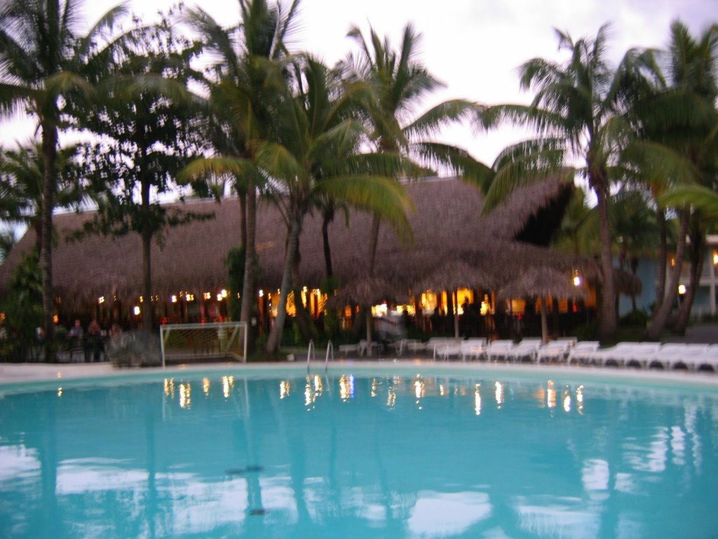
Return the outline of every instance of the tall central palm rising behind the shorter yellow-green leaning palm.
<path id="1" fill-rule="evenodd" d="M 381 40 L 371 28 L 368 40 L 358 27 L 348 34 L 359 45 L 358 54 L 350 53 L 341 64 L 350 80 L 362 80 L 370 92 L 365 101 L 370 139 L 377 152 L 401 156 L 401 170 L 389 170 L 395 176 L 425 174 L 424 167 L 437 167 L 462 174 L 466 180 L 482 185 L 490 170 L 474 160 L 464 149 L 432 141 L 442 127 L 469 119 L 476 114 L 476 103 L 444 101 L 415 116 L 420 101 L 442 83 L 434 78 L 417 58 L 419 34 L 411 24 L 404 27 L 401 42 L 393 48 L 388 38 Z M 373 218 L 370 235 L 368 272 L 373 273 L 379 216 Z"/>

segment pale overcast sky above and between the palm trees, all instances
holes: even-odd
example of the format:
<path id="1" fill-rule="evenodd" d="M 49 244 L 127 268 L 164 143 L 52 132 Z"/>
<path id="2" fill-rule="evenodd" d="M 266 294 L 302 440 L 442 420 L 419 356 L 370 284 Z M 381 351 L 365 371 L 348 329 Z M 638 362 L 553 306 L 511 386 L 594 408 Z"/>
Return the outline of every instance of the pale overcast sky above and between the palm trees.
<path id="1" fill-rule="evenodd" d="M 226 25 L 238 21 L 236 0 L 185 0 L 185 4 L 201 5 Z M 86 5 L 88 22 L 93 22 L 113 4 L 87 0 Z M 162 0 L 130 3 L 146 19 L 168 5 Z M 371 24 L 397 43 L 401 30 L 411 22 L 421 33 L 421 60 L 446 85 L 427 98 L 423 109 L 449 98 L 528 103 L 531 96 L 518 90 L 516 68 L 532 57 L 565 58 L 557 51 L 554 28 L 577 39 L 595 36 L 603 23 L 611 22 L 609 56 L 615 64 L 630 47 L 664 47 L 673 19 L 683 20 L 696 35 L 718 22 L 717 14 L 718 0 L 303 0 L 292 48 L 313 52 L 332 64 L 353 47 L 346 37 L 352 24 L 365 30 Z M 6 124 L 1 141 L 9 144 L 28 134 L 32 129 Z M 502 129 L 476 135 L 466 125 L 439 138 L 490 164 L 500 149 L 523 134 Z"/>

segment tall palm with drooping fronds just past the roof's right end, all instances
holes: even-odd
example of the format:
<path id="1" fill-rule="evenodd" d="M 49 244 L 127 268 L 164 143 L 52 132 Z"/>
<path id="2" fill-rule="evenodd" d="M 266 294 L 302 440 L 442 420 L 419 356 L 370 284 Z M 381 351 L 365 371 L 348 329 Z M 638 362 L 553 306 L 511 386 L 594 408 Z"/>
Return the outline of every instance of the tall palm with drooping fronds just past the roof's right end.
<path id="1" fill-rule="evenodd" d="M 625 176 L 618 157 L 631 132 L 623 113 L 632 97 L 628 89 L 640 78 L 638 67 L 651 60 L 650 55 L 631 50 L 612 70 L 605 58 L 608 28 L 604 24 L 594 38 L 577 41 L 556 30 L 559 50 L 569 53 L 568 60 L 533 58 L 520 68 L 521 88 L 536 92 L 531 105 L 493 106 L 480 116 L 482 128 L 511 121 L 533 127 L 540 137 L 507 149 L 511 158 L 505 158 L 497 170 L 488 201 L 500 199 L 494 190 L 503 195 L 532 176 L 544 178 L 564 167 L 567 159 L 581 162 L 576 173 L 595 195 L 600 226 L 602 339 L 612 338 L 617 329 L 609 205 L 611 186 Z"/>

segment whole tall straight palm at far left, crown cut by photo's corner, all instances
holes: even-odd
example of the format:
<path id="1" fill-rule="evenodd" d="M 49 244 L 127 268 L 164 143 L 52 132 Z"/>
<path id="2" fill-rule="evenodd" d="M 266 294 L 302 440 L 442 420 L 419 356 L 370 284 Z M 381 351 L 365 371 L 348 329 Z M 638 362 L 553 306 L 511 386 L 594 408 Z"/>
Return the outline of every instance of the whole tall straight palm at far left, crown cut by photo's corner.
<path id="1" fill-rule="evenodd" d="M 81 4 L 81 0 L 9 0 L 0 6 L 0 112 L 29 111 L 34 116 L 45 161 L 40 267 L 47 359 L 52 359 L 55 334 L 51 231 L 62 97 L 90 95 L 83 73 L 96 65 L 93 60 L 106 55 L 107 47 L 98 47 L 99 38 L 106 37 L 126 12 L 123 6 L 111 9 L 83 36 L 78 33 Z"/>

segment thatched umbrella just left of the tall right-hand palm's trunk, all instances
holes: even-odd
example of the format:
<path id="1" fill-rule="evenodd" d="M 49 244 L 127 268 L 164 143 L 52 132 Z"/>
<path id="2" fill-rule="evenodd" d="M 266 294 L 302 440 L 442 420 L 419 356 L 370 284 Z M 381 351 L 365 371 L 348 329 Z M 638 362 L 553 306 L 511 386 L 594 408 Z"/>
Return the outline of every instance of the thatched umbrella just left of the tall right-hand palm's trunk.
<path id="1" fill-rule="evenodd" d="M 574 285 L 569 275 L 545 266 L 528 267 L 498 292 L 498 297 L 503 299 L 538 298 L 541 301 L 541 339 L 544 342 L 549 337 L 546 298 L 577 300 L 585 299 L 587 296 L 588 292 L 585 287 Z"/>

